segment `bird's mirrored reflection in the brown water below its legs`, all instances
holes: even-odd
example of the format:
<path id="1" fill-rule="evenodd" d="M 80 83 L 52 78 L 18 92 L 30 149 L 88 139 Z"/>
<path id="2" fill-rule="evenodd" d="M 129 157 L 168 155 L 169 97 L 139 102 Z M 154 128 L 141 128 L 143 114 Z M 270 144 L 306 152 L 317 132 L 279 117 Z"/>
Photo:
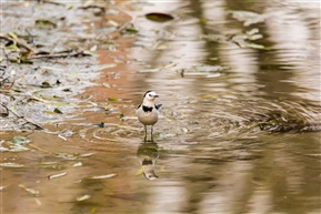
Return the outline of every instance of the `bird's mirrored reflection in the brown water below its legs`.
<path id="1" fill-rule="evenodd" d="M 159 159 L 159 146 L 154 141 L 144 141 L 138 146 L 137 157 L 141 165 L 141 173 L 148 180 L 154 180 L 158 175 L 154 172 L 154 165 Z M 140 173 L 139 173 L 140 174 Z"/>

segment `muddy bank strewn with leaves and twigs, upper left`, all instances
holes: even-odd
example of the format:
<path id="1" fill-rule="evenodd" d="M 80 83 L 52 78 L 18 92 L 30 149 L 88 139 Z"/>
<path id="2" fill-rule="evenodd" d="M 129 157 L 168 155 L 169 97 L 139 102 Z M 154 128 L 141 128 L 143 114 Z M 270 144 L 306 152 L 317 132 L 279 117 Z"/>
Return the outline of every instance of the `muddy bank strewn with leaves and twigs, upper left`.
<path id="1" fill-rule="evenodd" d="M 6 2 L 1 12 L 1 130 L 44 129 L 99 108 L 81 96 L 89 86 L 101 85 L 94 98 L 108 89 L 99 101 L 117 98 L 117 77 L 100 77 L 126 61 L 131 18 L 117 3 Z"/>

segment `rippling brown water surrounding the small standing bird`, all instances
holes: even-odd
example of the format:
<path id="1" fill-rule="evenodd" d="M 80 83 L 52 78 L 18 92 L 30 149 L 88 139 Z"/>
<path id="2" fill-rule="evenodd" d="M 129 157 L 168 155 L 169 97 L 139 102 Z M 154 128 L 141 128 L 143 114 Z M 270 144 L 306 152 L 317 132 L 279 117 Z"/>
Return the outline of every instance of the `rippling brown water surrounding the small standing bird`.
<path id="1" fill-rule="evenodd" d="M 1 132 L 1 144 L 31 141 L 1 152 L 16 164 L 0 171 L 1 212 L 320 213 L 320 3 L 124 6 L 138 34 L 98 51 L 117 67 L 78 96 L 77 116 Z M 174 20 L 146 19 L 156 11 Z M 162 119 L 143 143 L 133 110 L 150 89 Z"/>

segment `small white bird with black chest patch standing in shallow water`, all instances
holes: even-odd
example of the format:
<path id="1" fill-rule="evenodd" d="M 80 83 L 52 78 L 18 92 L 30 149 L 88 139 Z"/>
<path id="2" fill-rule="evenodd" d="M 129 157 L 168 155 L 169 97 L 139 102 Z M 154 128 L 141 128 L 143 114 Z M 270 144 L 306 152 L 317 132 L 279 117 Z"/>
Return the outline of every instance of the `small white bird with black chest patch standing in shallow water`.
<path id="1" fill-rule="evenodd" d="M 158 122 L 159 110 L 162 104 L 154 104 L 154 99 L 159 95 L 154 91 L 147 91 L 143 95 L 142 103 L 138 105 L 136 115 L 138 120 L 144 125 L 144 141 L 147 140 L 147 126 L 151 125 L 151 140 L 153 125 Z"/>

